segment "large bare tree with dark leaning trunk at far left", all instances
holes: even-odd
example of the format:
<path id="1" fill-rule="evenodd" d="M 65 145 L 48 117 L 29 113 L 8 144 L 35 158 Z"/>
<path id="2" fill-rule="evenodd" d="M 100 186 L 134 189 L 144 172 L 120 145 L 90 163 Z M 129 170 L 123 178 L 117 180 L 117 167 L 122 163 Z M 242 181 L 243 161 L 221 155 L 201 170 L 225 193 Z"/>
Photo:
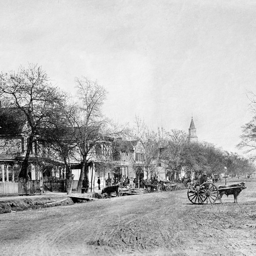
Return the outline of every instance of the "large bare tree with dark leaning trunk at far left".
<path id="1" fill-rule="evenodd" d="M 21 67 L 18 72 L 0 75 L 0 93 L 7 97 L 9 106 L 17 108 L 24 114 L 27 125 L 26 155 L 19 177 L 29 178 L 28 161 L 35 138 L 40 129 L 48 127 L 49 117 L 58 113 L 66 95 L 53 87 L 46 72 L 37 65 Z"/>

